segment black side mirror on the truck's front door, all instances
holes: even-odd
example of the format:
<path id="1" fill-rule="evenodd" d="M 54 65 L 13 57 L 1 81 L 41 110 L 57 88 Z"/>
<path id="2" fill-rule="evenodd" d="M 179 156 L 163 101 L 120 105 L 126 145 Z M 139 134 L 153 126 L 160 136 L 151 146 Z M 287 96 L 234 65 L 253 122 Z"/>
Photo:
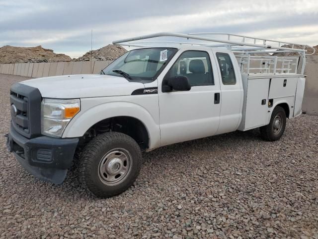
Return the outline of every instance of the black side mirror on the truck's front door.
<path id="1" fill-rule="evenodd" d="M 189 90 L 191 90 L 191 84 L 189 82 L 189 79 L 185 76 L 171 77 L 168 79 L 164 79 L 162 82 L 162 92 Z"/>

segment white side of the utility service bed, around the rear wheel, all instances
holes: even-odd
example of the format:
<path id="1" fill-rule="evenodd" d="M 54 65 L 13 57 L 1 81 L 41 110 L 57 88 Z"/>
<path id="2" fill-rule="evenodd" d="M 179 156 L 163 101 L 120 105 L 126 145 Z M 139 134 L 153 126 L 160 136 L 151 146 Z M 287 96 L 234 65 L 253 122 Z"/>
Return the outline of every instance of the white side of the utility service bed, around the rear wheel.
<path id="1" fill-rule="evenodd" d="M 248 130 L 269 123 L 272 110 L 278 104 L 286 103 L 290 119 L 301 114 L 304 96 L 305 77 L 300 75 L 242 75 L 244 87 L 243 119 L 239 130 Z M 286 84 L 284 84 L 284 82 Z M 299 83 L 298 83 L 299 82 Z M 285 86 L 284 86 L 285 85 Z M 299 85 L 299 88 L 297 87 Z M 297 88 L 297 89 L 296 89 Z M 273 99 L 273 106 L 268 108 L 268 100 Z M 265 105 L 261 101 L 266 100 Z M 294 114 L 294 109 L 297 111 Z"/>

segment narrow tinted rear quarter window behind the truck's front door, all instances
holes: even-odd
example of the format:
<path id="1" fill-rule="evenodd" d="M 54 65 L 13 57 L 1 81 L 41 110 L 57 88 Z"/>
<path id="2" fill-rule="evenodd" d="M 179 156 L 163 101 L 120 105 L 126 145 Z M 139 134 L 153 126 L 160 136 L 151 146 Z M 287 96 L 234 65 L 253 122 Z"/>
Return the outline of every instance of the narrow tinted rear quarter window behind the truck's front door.
<path id="1" fill-rule="evenodd" d="M 235 72 L 229 54 L 218 52 L 216 55 L 220 66 L 223 85 L 235 85 L 237 80 L 235 78 Z"/>

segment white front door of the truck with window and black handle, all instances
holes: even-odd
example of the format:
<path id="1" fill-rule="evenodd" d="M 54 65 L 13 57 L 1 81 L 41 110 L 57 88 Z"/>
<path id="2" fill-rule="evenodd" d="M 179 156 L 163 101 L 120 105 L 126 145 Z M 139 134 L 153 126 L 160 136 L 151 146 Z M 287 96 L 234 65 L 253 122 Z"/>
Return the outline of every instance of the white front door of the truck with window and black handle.
<path id="1" fill-rule="evenodd" d="M 161 146 L 217 132 L 222 102 L 218 73 L 214 71 L 217 65 L 210 54 L 212 51 L 178 53 L 166 74 L 161 74 L 158 89 Z M 162 92 L 162 79 L 174 76 L 186 76 L 191 89 Z"/>

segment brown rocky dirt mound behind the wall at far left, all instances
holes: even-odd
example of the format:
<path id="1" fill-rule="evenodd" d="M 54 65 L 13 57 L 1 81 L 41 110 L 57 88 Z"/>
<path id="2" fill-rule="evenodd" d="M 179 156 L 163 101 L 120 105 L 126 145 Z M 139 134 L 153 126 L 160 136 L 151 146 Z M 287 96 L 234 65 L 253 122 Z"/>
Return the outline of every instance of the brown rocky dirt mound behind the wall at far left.
<path id="1" fill-rule="evenodd" d="M 56 54 L 51 49 L 36 47 L 3 46 L 0 47 L 0 63 L 59 62 L 71 61 L 65 54 Z"/>

